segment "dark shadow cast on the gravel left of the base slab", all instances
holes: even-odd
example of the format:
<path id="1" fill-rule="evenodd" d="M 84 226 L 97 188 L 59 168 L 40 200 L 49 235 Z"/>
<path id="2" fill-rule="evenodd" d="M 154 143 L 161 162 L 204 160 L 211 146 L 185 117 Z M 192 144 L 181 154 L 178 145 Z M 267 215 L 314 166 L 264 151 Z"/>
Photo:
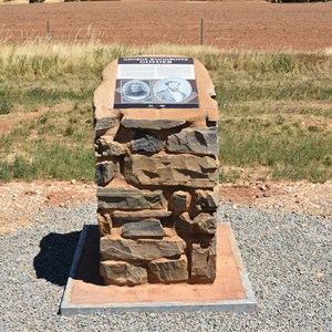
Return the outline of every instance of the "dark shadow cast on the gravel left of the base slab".
<path id="1" fill-rule="evenodd" d="M 38 279 L 65 286 L 81 231 L 51 232 L 40 241 L 40 252 L 33 260 Z"/>

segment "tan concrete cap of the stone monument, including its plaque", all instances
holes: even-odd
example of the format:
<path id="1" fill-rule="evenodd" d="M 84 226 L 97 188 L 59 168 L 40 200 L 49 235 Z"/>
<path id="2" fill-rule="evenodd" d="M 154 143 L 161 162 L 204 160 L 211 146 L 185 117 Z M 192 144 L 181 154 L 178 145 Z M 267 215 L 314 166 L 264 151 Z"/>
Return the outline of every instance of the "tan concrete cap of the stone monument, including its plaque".
<path id="1" fill-rule="evenodd" d="M 95 91 L 94 127 L 101 135 L 112 135 L 121 124 L 147 131 L 176 128 L 187 123 L 191 127 L 216 125 L 215 96 L 211 79 L 196 59 L 118 58 L 105 68 L 103 83 Z M 174 142 L 170 148 L 176 148 Z"/>

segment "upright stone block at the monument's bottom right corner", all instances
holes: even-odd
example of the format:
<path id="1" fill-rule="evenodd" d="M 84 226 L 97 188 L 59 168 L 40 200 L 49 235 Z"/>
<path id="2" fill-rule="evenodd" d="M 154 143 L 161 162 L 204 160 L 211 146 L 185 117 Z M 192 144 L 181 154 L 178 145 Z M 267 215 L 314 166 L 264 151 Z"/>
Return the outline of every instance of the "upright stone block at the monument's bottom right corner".
<path id="1" fill-rule="evenodd" d="M 211 243 L 193 243 L 191 283 L 211 283 L 216 279 L 216 238 Z"/>

